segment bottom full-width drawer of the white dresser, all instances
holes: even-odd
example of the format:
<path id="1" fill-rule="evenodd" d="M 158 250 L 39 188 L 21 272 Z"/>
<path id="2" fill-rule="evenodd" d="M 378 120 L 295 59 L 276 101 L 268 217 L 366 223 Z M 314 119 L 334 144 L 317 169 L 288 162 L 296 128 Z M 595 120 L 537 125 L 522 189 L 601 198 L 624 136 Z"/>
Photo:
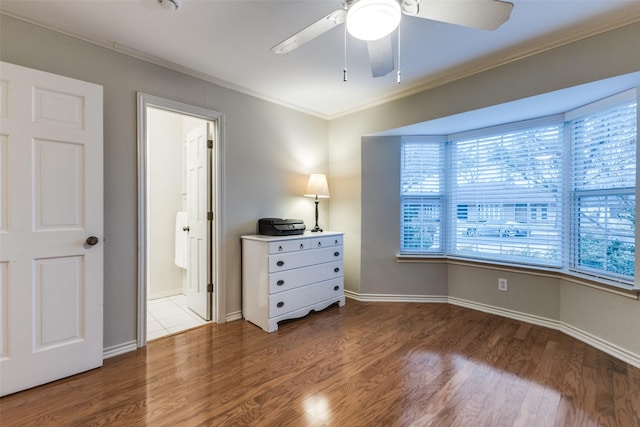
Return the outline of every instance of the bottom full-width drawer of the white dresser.
<path id="1" fill-rule="evenodd" d="M 290 311 L 333 297 L 343 295 L 342 278 L 314 283 L 269 296 L 269 317 L 277 317 Z"/>

